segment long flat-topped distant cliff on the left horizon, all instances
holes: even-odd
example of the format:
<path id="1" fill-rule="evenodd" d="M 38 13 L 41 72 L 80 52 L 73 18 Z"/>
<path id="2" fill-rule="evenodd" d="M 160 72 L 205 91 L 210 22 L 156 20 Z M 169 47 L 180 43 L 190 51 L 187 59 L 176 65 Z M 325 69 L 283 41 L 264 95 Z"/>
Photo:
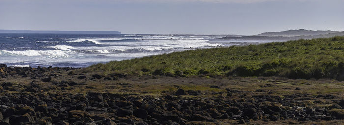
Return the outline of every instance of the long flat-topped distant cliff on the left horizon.
<path id="1" fill-rule="evenodd" d="M 39 33 L 39 34 L 121 34 L 118 31 L 34 31 L 34 30 L 0 30 L 0 33 Z"/>

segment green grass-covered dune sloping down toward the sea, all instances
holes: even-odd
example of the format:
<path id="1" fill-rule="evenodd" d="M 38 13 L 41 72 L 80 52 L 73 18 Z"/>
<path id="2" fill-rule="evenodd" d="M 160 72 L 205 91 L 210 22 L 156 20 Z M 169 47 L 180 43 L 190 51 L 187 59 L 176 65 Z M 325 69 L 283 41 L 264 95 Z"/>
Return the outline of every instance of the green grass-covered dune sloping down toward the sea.
<path id="1" fill-rule="evenodd" d="M 96 64 L 84 70 L 120 75 L 280 76 L 344 80 L 344 37 L 173 52 Z"/>

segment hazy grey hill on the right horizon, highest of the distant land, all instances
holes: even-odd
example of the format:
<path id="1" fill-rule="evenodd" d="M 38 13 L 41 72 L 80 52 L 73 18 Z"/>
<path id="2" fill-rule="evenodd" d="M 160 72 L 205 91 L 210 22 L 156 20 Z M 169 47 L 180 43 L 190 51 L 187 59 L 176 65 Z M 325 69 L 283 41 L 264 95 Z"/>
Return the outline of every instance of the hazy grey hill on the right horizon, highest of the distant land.
<path id="1" fill-rule="evenodd" d="M 336 33 L 338 31 L 312 31 L 312 30 L 305 30 L 305 29 L 299 29 L 299 30 L 288 30 L 288 31 L 282 31 L 282 32 L 265 32 L 258 34 L 257 36 L 313 36 L 313 35 L 322 35 L 322 34 L 329 34 L 329 33 Z"/>

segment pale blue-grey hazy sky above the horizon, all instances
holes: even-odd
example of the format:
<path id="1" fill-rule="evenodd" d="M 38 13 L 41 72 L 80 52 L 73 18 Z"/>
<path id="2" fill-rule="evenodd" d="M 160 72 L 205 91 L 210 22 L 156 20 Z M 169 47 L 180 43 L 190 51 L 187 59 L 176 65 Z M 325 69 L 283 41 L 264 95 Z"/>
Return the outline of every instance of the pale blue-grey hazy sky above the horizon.
<path id="1" fill-rule="evenodd" d="M 254 35 L 344 31 L 344 0 L 0 0 L 0 29 Z"/>

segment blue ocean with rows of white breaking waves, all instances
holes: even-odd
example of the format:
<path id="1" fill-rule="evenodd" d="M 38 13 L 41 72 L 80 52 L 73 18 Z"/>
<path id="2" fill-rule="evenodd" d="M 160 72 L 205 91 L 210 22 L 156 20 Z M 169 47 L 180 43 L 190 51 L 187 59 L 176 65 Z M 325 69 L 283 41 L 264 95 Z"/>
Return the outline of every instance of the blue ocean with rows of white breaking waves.
<path id="1" fill-rule="evenodd" d="M 87 67 L 150 55 L 255 42 L 226 35 L 0 34 L 0 64 L 20 67 Z"/>

